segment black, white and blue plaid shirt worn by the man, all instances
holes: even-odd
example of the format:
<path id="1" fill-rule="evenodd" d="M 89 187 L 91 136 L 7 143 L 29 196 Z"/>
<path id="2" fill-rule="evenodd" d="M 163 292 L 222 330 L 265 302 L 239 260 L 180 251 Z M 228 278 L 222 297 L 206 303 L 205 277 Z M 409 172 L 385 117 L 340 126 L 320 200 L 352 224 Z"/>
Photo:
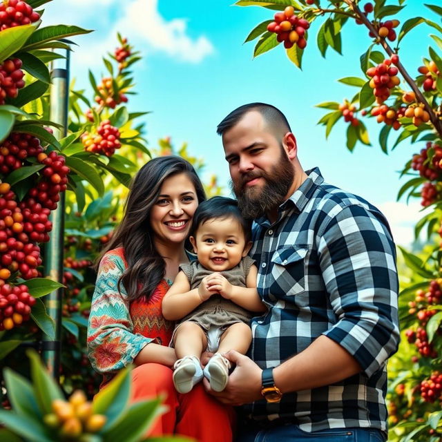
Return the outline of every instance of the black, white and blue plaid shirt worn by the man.
<path id="1" fill-rule="evenodd" d="M 321 334 L 363 372 L 287 393 L 277 404 L 245 405 L 256 420 L 284 419 L 307 432 L 338 427 L 386 430 L 387 358 L 396 352 L 398 279 L 390 229 L 376 207 L 326 184 L 319 169 L 281 204 L 278 220 L 253 225 L 251 256 L 269 311 L 253 318 L 249 356 L 276 367 Z"/>

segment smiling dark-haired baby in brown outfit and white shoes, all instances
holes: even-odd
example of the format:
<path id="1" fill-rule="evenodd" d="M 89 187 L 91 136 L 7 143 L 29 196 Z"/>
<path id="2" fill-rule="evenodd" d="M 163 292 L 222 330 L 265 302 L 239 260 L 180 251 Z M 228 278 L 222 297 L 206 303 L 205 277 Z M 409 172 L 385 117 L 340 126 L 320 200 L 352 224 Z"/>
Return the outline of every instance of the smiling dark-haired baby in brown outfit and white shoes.
<path id="1" fill-rule="evenodd" d="M 193 215 L 191 244 L 198 260 L 180 265 L 180 273 L 162 301 L 164 318 L 180 320 L 171 346 L 177 392 L 187 393 L 205 376 L 215 392 L 229 379 L 230 349 L 245 354 L 251 343 L 251 311 L 265 311 L 258 291 L 258 269 L 247 256 L 251 222 L 244 220 L 236 200 L 216 196 L 202 202 Z M 204 372 L 200 356 L 216 352 Z"/>

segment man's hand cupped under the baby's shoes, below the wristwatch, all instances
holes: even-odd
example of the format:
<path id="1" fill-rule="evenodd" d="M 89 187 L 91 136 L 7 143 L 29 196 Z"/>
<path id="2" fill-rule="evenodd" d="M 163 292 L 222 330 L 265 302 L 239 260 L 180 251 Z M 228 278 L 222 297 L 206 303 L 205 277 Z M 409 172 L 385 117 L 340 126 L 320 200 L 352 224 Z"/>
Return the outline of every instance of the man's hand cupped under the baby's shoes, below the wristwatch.
<path id="1" fill-rule="evenodd" d="M 230 405 L 242 405 L 262 399 L 262 369 L 247 356 L 236 352 L 236 350 L 230 350 L 224 356 L 231 363 L 236 364 L 235 369 L 229 376 L 227 387 L 222 392 L 213 392 L 209 381 L 204 378 L 206 391 L 213 394 L 218 401 Z"/>

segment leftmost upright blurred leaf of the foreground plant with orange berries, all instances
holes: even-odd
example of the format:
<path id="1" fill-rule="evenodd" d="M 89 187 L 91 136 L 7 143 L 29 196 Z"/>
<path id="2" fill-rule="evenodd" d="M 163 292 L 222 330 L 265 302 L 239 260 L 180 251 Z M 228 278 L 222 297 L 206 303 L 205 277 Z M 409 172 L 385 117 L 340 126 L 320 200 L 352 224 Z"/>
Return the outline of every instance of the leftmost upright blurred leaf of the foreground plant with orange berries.
<path id="1" fill-rule="evenodd" d="M 31 419 L 41 419 L 41 412 L 32 384 L 25 377 L 15 373 L 9 367 L 3 372 L 8 388 L 8 398 L 12 409 L 19 415 L 28 416 Z"/>

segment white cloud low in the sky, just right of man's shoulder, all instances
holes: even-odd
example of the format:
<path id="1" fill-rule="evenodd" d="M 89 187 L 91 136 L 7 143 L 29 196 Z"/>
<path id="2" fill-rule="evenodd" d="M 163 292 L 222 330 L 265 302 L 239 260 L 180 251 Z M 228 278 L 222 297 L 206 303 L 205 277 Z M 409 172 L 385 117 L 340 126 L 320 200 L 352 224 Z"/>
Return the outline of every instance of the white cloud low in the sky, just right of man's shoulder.
<path id="1" fill-rule="evenodd" d="M 414 240 L 414 226 L 426 212 L 421 212 L 419 202 L 384 202 L 378 204 L 378 209 L 385 215 L 392 228 L 394 242 L 409 246 Z"/>

